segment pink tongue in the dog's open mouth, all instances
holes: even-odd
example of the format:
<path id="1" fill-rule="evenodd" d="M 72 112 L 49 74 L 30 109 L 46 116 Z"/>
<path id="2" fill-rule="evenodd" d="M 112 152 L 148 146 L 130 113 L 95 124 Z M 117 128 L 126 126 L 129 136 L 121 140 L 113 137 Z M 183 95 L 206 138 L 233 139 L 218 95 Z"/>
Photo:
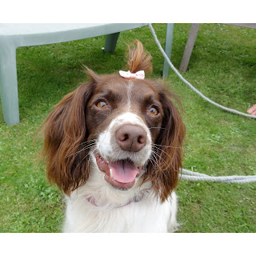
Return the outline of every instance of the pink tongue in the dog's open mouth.
<path id="1" fill-rule="evenodd" d="M 138 172 L 138 167 L 130 161 L 110 162 L 109 167 L 112 169 L 114 180 L 120 183 L 133 182 Z"/>

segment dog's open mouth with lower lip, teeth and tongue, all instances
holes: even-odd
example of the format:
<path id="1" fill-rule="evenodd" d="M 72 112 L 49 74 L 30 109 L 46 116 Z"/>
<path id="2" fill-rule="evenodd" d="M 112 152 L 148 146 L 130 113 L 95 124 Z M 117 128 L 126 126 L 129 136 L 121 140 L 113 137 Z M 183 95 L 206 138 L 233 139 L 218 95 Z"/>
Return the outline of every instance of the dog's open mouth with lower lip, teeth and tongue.
<path id="1" fill-rule="evenodd" d="M 134 186 L 142 166 L 135 166 L 130 159 L 106 162 L 100 154 L 94 154 L 98 169 L 105 173 L 105 179 L 110 185 L 121 190 L 128 190 Z"/>

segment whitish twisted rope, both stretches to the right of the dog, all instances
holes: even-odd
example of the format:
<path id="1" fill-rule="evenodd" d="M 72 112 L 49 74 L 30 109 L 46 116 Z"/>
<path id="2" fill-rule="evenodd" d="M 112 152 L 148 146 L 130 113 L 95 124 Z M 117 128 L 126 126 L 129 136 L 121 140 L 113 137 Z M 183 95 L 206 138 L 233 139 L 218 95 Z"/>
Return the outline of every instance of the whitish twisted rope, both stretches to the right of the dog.
<path id="1" fill-rule="evenodd" d="M 190 82 L 186 81 L 186 79 L 182 77 L 182 75 L 174 67 L 173 63 L 170 62 L 170 59 L 168 58 L 168 56 L 166 55 L 165 51 L 162 49 L 162 46 L 161 46 L 160 42 L 158 41 L 158 37 L 157 37 L 157 35 L 154 32 L 153 26 L 150 23 L 148 24 L 148 26 L 150 27 L 151 33 L 152 33 L 152 35 L 154 37 L 154 41 L 156 42 L 159 50 L 162 52 L 162 55 L 166 59 L 166 62 L 169 64 L 170 68 L 172 70 L 174 70 L 174 73 L 178 75 L 178 77 L 182 80 L 182 82 L 186 83 L 187 86 L 190 86 L 190 88 L 192 90 L 194 90 L 194 92 L 196 94 L 198 94 L 204 100 L 206 100 L 207 102 L 210 102 L 214 106 L 218 106 L 222 110 L 226 110 L 226 111 L 229 111 L 229 112 L 234 113 L 234 114 L 241 114 L 243 116 L 246 116 L 247 118 L 256 118 L 256 116 L 253 115 L 253 114 L 245 114 L 245 113 L 242 113 L 242 112 L 240 112 L 238 110 L 233 110 L 233 109 L 230 109 L 230 108 L 228 108 L 226 106 L 222 106 L 222 105 L 212 101 L 210 98 L 207 98 L 199 90 L 194 88 L 194 86 L 192 86 L 190 84 Z M 213 177 L 213 176 L 209 176 L 209 175 L 206 175 L 206 174 L 200 174 L 198 172 L 193 172 L 191 170 L 186 170 L 186 169 L 182 169 L 182 171 L 180 173 L 180 178 L 183 179 L 183 180 L 194 181 L 194 182 L 195 181 L 204 181 L 204 182 L 223 182 L 223 183 L 238 183 L 238 184 L 256 182 L 256 175 Z"/>

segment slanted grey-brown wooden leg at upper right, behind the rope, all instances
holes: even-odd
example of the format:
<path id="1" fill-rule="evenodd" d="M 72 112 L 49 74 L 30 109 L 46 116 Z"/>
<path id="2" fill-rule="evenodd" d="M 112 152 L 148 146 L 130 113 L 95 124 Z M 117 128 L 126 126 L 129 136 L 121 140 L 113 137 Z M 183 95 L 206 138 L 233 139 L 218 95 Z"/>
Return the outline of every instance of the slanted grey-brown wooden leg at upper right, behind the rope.
<path id="1" fill-rule="evenodd" d="M 189 65 L 190 56 L 192 54 L 195 39 L 197 38 L 199 26 L 200 26 L 200 24 L 198 24 L 198 23 L 194 23 L 191 25 L 190 34 L 189 34 L 189 37 L 187 38 L 186 47 L 185 47 L 184 54 L 182 57 L 181 66 L 179 66 L 179 70 L 181 72 L 186 72 L 186 68 Z"/>

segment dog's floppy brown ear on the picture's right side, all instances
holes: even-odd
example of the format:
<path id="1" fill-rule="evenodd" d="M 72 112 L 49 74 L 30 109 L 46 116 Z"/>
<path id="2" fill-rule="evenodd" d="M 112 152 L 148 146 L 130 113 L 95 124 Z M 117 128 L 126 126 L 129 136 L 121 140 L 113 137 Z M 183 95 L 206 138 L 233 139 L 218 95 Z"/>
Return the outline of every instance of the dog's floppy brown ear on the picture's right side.
<path id="1" fill-rule="evenodd" d="M 178 98 L 167 90 L 159 93 L 164 112 L 162 129 L 154 143 L 154 161 L 147 166 L 147 178 L 152 182 L 156 194 L 164 202 L 178 185 L 178 172 L 182 168 L 182 142 L 186 128 L 174 103 Z M 180 102 L 179 102 L 180 104 Z M 157 164 L 155 164 L 157 163 Z"/>

